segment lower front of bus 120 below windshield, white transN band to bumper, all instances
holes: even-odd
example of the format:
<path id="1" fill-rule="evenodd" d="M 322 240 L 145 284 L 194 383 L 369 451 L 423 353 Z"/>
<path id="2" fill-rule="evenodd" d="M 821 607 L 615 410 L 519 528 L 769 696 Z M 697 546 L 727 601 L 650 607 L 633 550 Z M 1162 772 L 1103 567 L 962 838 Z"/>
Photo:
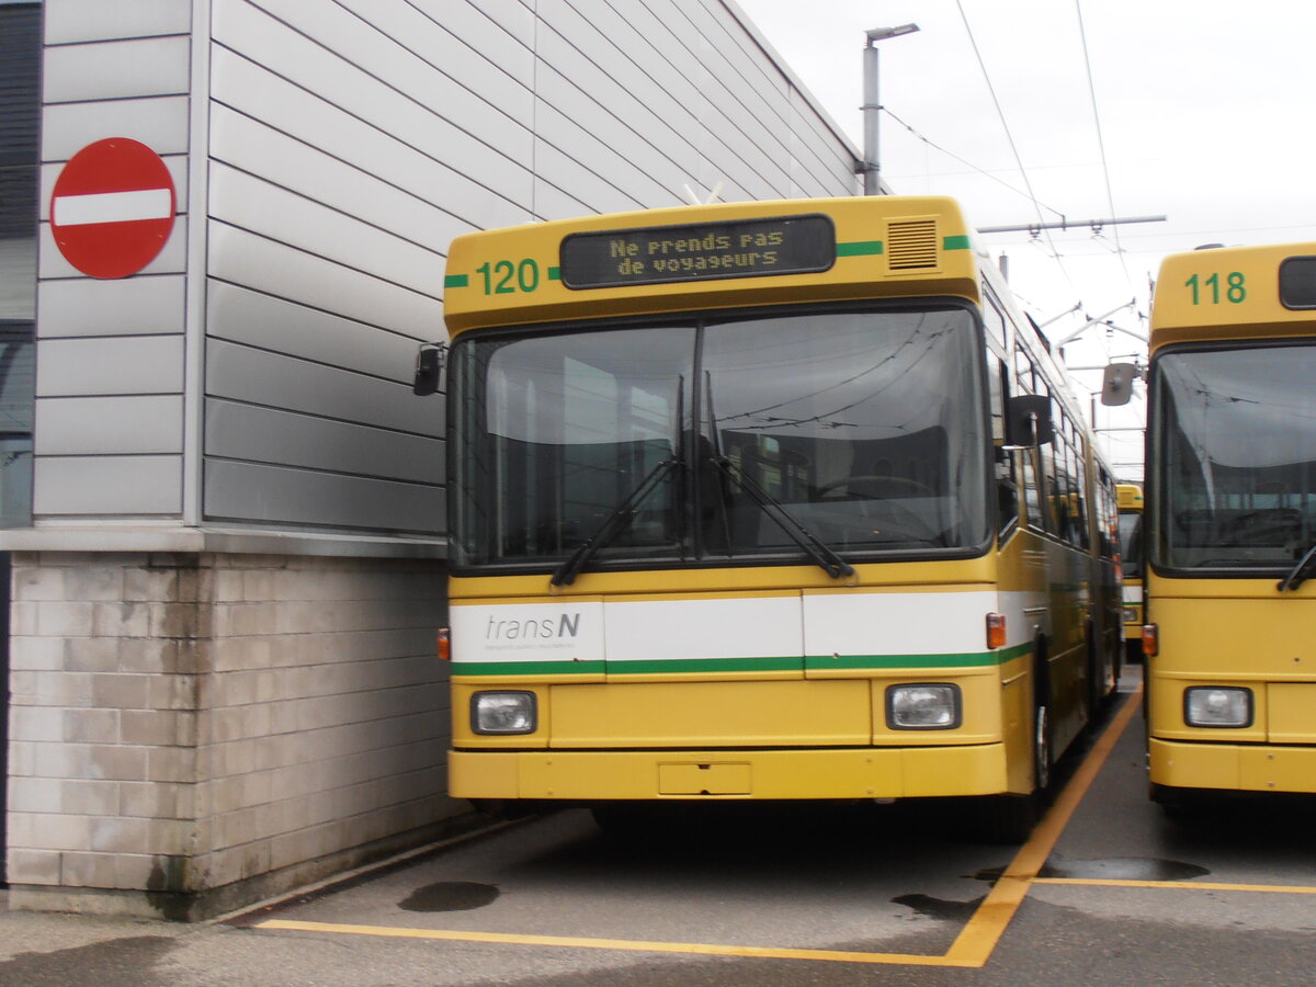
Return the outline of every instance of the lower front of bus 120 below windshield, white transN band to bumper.
<path id="1" fill-rule="evenodd" d="M 1045 599 L 1042 587 L 599 596 L 582 583 L 579 596 L 554 600 L 454 600 L 454 796 L 853 799 L 1032 788 L 1028 611 Z M 991 611 L 1004 611 L 1012 628 L 998 650 L 987 649 Z M 759 625 L 733 620 L 744 615 Z M 570 641 L 559 636 L 565 620 Z M 619 624 L 625 630 L 615 634 Z M 637 626 L 651 632 L 637 636 Z M 754 658 L 746 640 L 774 654 Z M 890 690 L 926 683 L 955 691 L 958 721 L 894 728 Z M 500 691 L 533 696 L 533 732 L 474 729 L 475 697 Z"/>

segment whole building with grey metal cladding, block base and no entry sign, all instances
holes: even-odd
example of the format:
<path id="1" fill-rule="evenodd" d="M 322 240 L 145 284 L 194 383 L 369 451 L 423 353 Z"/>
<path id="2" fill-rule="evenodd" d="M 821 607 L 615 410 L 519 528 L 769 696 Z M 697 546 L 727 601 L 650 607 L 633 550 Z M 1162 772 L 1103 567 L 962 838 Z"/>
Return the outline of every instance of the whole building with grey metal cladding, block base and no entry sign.
<path id="1" fill-rule="evenodd" d="M 12 907 L 193 919 L 470 825 L 411 392 L 449 241 L 851 195 L 854 149 L 730 0 L 0 17 Z"/>

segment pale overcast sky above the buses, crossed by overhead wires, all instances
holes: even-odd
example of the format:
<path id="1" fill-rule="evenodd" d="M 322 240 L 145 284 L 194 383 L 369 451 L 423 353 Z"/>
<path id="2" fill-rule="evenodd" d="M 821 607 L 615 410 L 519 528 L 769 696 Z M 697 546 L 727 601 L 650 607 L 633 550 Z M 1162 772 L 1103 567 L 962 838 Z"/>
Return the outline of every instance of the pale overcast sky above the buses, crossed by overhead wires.
<path id="1" fill-rule="evenodd" d="M 1145 333 L 1137 313 L 1166 253 L 1316 241 L 1313 0 L 736 3 L 859 149 L 865 32 L 919 25 L 879 42 L 879 159 L 896 193 L 955 196 L 976 226 L 1167 217 L 1099 236 L 984 236 L 1038 321 L 1136 299 L 1112 320 Z M 1058 342 L 1084 321 L 1046 332 Z M 1066 350 L 1074 367 L 1140 353 L 1130 336 L 1096 329 Z M 1098 425 L 1141 413 L 1101 408 Z M 1117 468 L 1137 472 L 1123 465 L 1141 437 L 1109 438 Z"/>

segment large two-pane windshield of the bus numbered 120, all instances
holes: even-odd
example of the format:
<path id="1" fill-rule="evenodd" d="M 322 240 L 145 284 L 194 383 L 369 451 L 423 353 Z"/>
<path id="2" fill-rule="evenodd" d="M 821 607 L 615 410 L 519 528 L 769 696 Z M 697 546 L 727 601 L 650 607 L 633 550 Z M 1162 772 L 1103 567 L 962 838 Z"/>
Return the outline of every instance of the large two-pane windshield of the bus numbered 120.
<path id="1" fill-rule="evenodd" d="M 453 561 L 982 550 L 978 338 L 958 307 L 458 337 Z"/>

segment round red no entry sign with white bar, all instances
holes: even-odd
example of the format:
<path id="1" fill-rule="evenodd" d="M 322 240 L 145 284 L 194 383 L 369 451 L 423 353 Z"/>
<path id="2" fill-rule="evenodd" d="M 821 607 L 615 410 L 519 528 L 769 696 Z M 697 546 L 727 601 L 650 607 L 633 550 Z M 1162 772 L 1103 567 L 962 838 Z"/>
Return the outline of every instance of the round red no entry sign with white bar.
<path id="1" fill-rule="evenodd" d="M 78 151 L 55 179 L 50 230 L 92 278 L 126 278 L 155 259 L 174 229 L 174 179 L 155 151 L 108 137 Z"/>

